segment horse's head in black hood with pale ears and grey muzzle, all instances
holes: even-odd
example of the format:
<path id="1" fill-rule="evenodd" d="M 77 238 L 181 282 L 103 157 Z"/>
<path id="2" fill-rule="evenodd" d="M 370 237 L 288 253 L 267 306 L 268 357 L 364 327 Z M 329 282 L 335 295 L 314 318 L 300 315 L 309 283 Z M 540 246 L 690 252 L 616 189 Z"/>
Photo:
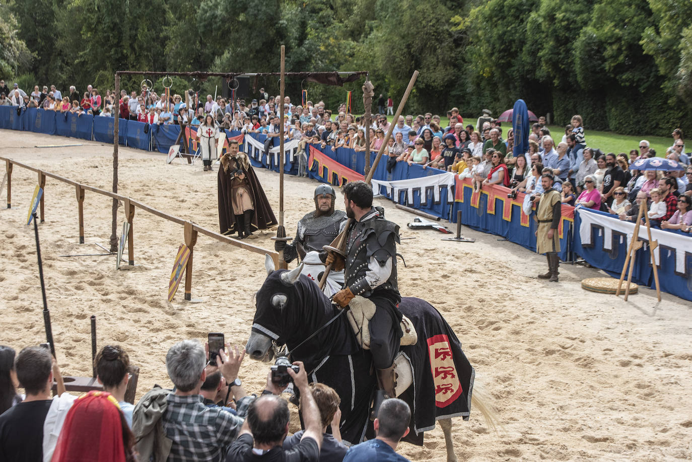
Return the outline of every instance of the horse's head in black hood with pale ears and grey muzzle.
<path id="1" fill-rule="evenodd" d="M 255 296 L 255 319 L 245 350 L 253 359 L 271 361 L 272 342 L 291 346 L 300 341 L 308 327 L 301 319 L 302 308 L 312 305 L 311 299 L 319 299 L 316 294 L 321 292 L 309 287 L 315 285 L 311 279 L 300 276 L 302 265 L 291 271 L 275 270 L 273 260 L 266 256 L 264 267 L 267 277 Z"/>

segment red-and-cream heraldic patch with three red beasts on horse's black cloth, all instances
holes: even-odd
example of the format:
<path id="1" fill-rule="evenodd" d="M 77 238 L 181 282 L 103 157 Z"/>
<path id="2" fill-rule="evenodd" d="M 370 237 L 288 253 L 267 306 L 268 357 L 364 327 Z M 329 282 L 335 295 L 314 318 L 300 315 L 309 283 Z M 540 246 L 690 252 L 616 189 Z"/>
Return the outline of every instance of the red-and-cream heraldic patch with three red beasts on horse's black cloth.
<path id="1" fill-rule="evenodd" d="M 432 380 L 435 382 L 435 406 L 446 407 L 464 391 L 459 382 L 448 337 L 441 334 L 428 338 L 428 353 Z"/>

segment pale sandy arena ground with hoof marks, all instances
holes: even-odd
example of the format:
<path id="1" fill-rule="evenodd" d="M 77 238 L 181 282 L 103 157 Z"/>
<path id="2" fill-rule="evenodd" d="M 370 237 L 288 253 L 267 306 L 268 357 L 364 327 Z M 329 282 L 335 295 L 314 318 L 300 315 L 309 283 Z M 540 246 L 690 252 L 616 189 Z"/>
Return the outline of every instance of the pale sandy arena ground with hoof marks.
<path id="1" fill-rule="evenodd" d="M 82 143 L 73 148 L 35 145 Z M 109 189 L 112 147 L 102 143 L 0 130 L 0 155 L 48 172 Z M 257 171 L 278 208 L 278 175 Z M 35 172 L 15 167 L 12 208 L 0 209 L 0 344 L 19 350 L 45 341 L 33 226 L 26 213 Z M 313 208 L 314 181 L 286 177 L 286 229 Z M 166 165 L 162 154 L 120 148 L 120 193 L 161 211 L 217 229 L 217 175 L 201 166 Z M 253 319 L 251 298 L 265 272 L 264 258 L 199 236 L 194 248 L 192 297 L 182 287 L 167 302 L 167 283 L 183 227 L 140 211 L 134 217 L 135 266 L 117 271 L 108 247 L 110 199 L 86 193 L 86 244 L 78 244 L 72 186 L 48 179 L 46 222 L 39 227 L 48 306 L 57 359 L 67 375 L 90 375 L 89 316 L 98 322 L 98 344 L 119 343 L 141 368 L 138 397 L 153 384 L 170 386 L 165 353 L 179 339 L 225 332 L 244 344 Z M 338 200 L 341 200 L 339 195 Z M 0 192 L 6 202 L 6 190 Z M 596 269 L 562 265 L 558 284 L 534 278 L 545 257 L 464 229 L 475 244 L 441 241 L 436 231 L 408 231 L 414 215 L 379 199 L 402 227 L 399 269 L 406 296 L 435 305 L 453 326 L 471 364 L 476 387 L 498 410 L 504 425 L 489 432 L 479 413 L 455 420 L 459 460 L 692 459 L 692 307 L 682 299 L 641 290 L 626 303 L 585 292 L 583 278 Z M 122 223 L 122 208 L 118 222 Z M 120 227 L 119 226 L 119 227 Z M 118 231 L 120 233 L 120 231 Z M 253 244 L 271 248 L 270 233 Z M 246 359 L 241 375 L 248 391 L 262 390 L 267 365 Z M 445 460 L 435 429 L 426 445 L 406 443 L 400 452 L 416 461 Z"/>

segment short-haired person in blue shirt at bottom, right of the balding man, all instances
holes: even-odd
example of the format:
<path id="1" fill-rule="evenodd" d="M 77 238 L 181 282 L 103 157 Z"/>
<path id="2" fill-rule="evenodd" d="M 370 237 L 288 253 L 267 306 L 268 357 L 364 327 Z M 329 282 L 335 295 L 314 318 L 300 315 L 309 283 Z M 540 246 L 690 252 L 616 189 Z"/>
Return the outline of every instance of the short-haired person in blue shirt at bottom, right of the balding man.
<path id="1" fill-rule="evenodd" d="M 397 398 L 384 400 L 373 422 L 376 438 L 351 447 L 344 462 L 405 462 L 406 457 L 397 454 L 401 438 L 408 435 L 411 410 L 406 402 Z"/>

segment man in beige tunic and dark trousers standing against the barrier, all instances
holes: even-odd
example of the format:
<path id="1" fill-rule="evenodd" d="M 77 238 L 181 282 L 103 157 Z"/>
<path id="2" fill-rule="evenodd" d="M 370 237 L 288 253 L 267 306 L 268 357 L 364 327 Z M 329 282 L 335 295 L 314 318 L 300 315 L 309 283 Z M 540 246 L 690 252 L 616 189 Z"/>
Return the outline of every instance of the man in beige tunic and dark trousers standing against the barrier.
<path id="1" fill-rule="evenodd" d="M 539 274 L 538 278 L 558 282 L 558 266 L 560 258 L 560 238 L 558 237 L 558 225 L 562 216 L 562 202 L 560 193 L 553 189 L 554 177 L 552 173 L 545 172 L 540 177 L 544 193 L 538 199 L 536 208 L 536 252 L 545 254 L 548 260 L 548 272 Z"/>

